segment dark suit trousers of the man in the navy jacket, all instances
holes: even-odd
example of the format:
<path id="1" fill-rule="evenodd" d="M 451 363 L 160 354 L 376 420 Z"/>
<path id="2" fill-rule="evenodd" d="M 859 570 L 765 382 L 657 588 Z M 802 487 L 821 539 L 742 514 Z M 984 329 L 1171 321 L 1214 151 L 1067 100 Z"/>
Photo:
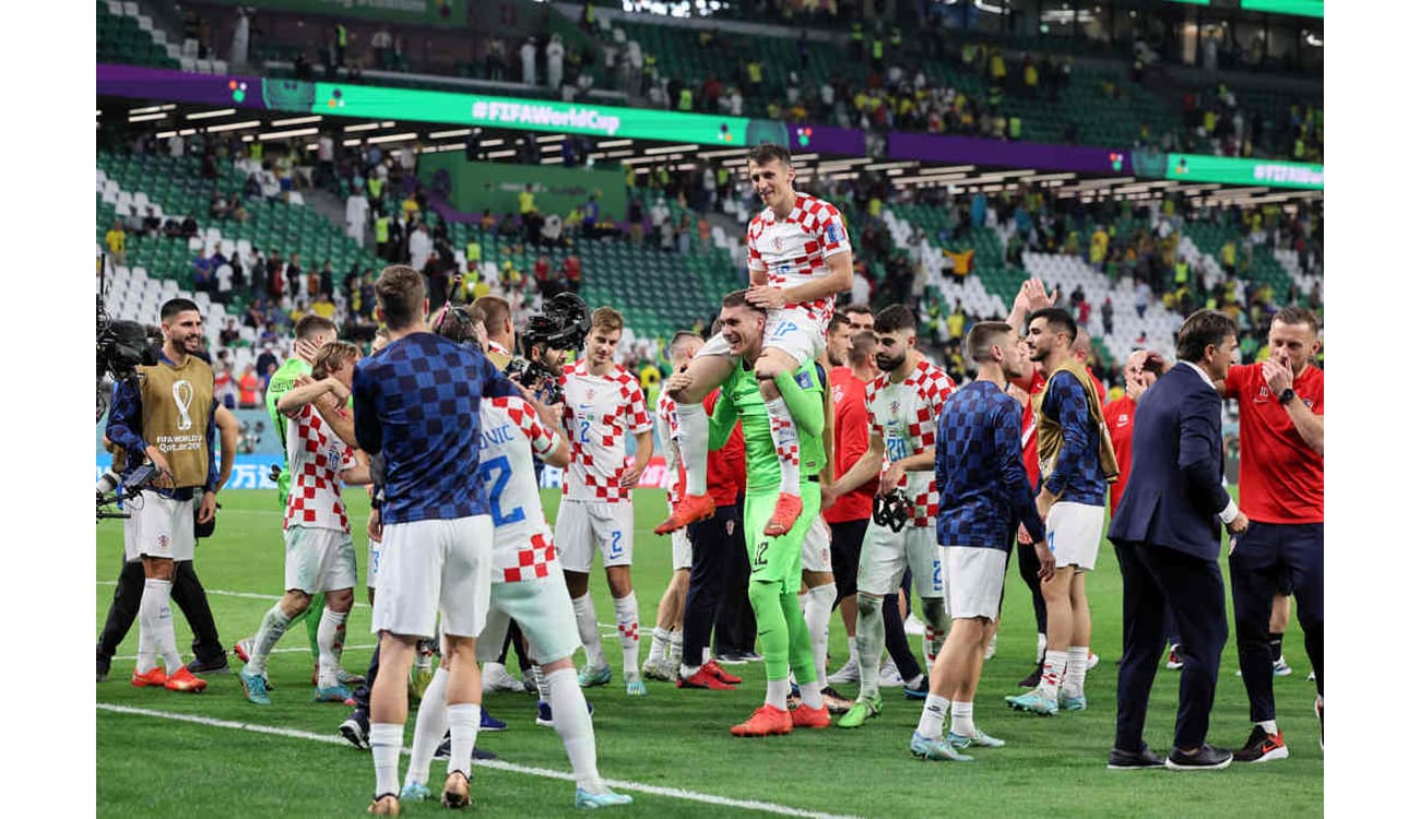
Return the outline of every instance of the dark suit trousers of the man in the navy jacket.
<path id="1" fill-rule="evenodd" d="M 1115 748 L 1142 751 L 1149 691 L 1159 671 L 1164 606 L 1179 626 L 1183 673 L 1173 744 L 1203 745 L 1218 684 L 1218 661 L 1228 639 L 1227 602 L 1217 561 L 1150 544 L 1118 541 L 1125 592 L 1125 656 L 1119 666 Z"/>

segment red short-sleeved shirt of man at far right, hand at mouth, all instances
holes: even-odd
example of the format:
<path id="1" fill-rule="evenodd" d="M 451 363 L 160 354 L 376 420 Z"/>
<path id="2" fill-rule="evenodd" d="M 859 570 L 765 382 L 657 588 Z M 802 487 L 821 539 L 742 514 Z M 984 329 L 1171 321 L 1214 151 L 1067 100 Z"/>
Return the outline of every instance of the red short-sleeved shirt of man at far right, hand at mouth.
<path id="1" fill-rule="evenodd" d="M 1302 406 L 1325 414 L 1323 373 L 1315 366 L 1294 379 Z M 1228 368 L 1227 397 L 1238 402 L 1238 437 L 1242 468 L 1238 473 L 1238 505 L 1262 524 L 1323 522 L 1322 456 L 1302 441 L 1287 407 L 1262 378 L 1262 365 Z"/>

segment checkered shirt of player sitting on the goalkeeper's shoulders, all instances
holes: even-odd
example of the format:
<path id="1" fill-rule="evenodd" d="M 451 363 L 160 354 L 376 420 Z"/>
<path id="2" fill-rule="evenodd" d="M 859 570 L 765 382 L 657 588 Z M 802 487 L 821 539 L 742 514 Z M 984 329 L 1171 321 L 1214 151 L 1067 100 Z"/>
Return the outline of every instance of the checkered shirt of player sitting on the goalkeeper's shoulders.
<path id="1" fill-rule="evenodd" d="M 764 273 L 771 287 L 797 287 L 828 275 L 828 258 L 853 250 L 848 227 L 832 204 L 799 193 L 794 210 L 780 220 L 765 207 L 750 221 L 746 238 L 750 273 Z M 802 312 L 819 331 L 828 332 L 834 318 L 834 294 L 784 309 Z"/>

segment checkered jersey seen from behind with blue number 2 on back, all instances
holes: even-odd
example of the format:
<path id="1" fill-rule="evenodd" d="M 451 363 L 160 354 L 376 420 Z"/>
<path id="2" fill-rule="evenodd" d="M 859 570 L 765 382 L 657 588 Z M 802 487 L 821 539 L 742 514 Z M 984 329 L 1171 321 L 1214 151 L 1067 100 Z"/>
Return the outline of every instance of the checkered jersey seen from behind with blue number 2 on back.
<path id="1" fill-rule="evenodd" d="M 479 424 L 479 474 L 493 517 L 493 582 L 559 576 L 532 471 L 534 454 L 541 458 L 557 449 L 557 430 L 521 397 L 483 399 Z"/>

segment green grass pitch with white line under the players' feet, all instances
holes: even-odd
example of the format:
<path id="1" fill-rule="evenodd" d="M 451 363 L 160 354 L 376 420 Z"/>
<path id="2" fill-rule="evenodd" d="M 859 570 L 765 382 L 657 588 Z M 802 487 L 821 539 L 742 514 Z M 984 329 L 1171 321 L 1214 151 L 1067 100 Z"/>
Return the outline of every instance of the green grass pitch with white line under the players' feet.
<path id="1" fill-rule="evenodd" d="M 633 578 L 640 602 L 642 633 L 650 634 L 656 603 L 670 573 L 670 541 L 650 534 L 665 512 L 665 495 L 636 493 L 636 565 Z M 355 527 L 356 555 L 364 581 L 364 493 L 346 494 Z M 550 518 L 557 494 L 544 493 Z M 281 592 L 281 517 L 271 491 L 223 495 L 217 535 L 197 549 L 197 569 L 209 589 L 223 643 L 254 633 L 263 612 Z M 122 559 L 118 521 L 98 527 L 95 600 L 98 627 L 108 610 Z M 1224 572 L 1227 566 L 1224 564 Z M 613 622 L 606 583 L 594 571 L 598 619 Z M 1285 652 L 1294 673 L 1277 680 L 1277 710 L 1292 758 L 1264 765 L 1234 765 L 1223 772 L 1115 772 L 1105 769 L 1113 738 L 1115 681 L 1120 646 L 1120 585 L 1109 544 L 1100 546 L 1099 569 L 1089 578 L 1095 620 L 1093 649 L 1102 657 L 1086 681 L 1089 710 L 1054 718 L 1018 714 L 1003 696 L 1030 669 L 1035 627 L 1025 585 L 1015 566 L 1007 576 L 1007 600 L 995 659 L 988 660 L 977 694 L 977 724 L 1008 742 L 1001 749 L 976 749 L 970 764 L 927 764 L 907 752 L 920 703 L 885 688 L 885 710 L 863 728 L 799 730 L 788 737 L 738 740 L 730 725 L 760 705 L 764 671 L 738 666 L 746 677 L 738 691 L 680 691 L 648 683 L 650 696 L 628 700 L 619 686 L 588 690 L 596 705 L 596 747 L 602 775 L 659 789 L 694 792 L 721 799 L 768 803 L 787 815 L 853 816 L 1247 816 L 1311 815 L 1322 812 L 1322 751 L 1312 715 L 1311 670 L 1294 625 Z M 364 592 L 349 620 L 344 664 L 364 671 L 373 646 Z M 185 659 L 192 637 L 176 613 L 178 640 Z M 615 627 L 602 627 L 606 656 L 619 670 Z M 920 652 L 920 639 L 909 637 Z M 298 627 L 277 646 L 270 663 L 275 686 L 273 705 L 257 707 L 241 697 L 234 674 L 213 674 L 206 693 L 175 694 L 128 684 L 136 653 L 136 625 L 114 661 L 109 680 L 95 688 L 95 741 L 99 816 L 355 816 L 364 815 L 373 789 L 369 754 L 337 737 L 346 708 L 311 701 L 311 656 L 305 630 Z M 642 646 L 642 659 L 649 639 Z M 848 656 L 842 620 L 834 615 L 831 669 Z M 233 663 L 237 661 L 233 659 Z M 578 656 L 578 663 L 581 657 Z M 1247 698 L 1237 670 L 1234 644 L 1223 654 L 1210 740 L 1237 747 L 1250 730 Z M 845 693 L 852 687 L 843 687 Z M 1176 673 L 1160 669 L 1146 738 L 1162 752 L 1173 732 Z M 534 725 L 535 698 L 498 693 L 484 698 L 488 711 L 508 722 L 500 734 L 483 732 L 480 747 L 498 754 L 513 768 L 474 771 L 474 809 L 483 816 L 545 816 L 572 812 L 572 784 L 550 778 L 568 772 L 562 745 L 551 728 Z M 106 707 L 139 708 L 121 713 Z M 160 714 L 219 721 L 203 724 Z M 410 711 L 413 714 L 413 711 Z M 406 747 L 413 738 L 405 731 Z M 258 732 L 270 727 L 288 734 Z M 318 737 L 308 737 L 314 734 Z M 405 765 L 400 765 L 403 772 Z M 541 769 L 534 772 L 530 769 Z M 435 762 L 439 781 L 443 762 Z M 747 813 L 744 806 L 697 802 L 670 791 L 632 791 L 636 802 L 618 809 L 625 816 L 711 816 Z M 435 816 L 436 802 L 405 805 L 406 816 Z"/>

